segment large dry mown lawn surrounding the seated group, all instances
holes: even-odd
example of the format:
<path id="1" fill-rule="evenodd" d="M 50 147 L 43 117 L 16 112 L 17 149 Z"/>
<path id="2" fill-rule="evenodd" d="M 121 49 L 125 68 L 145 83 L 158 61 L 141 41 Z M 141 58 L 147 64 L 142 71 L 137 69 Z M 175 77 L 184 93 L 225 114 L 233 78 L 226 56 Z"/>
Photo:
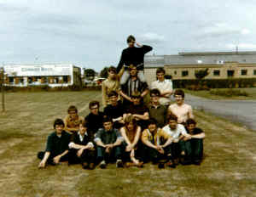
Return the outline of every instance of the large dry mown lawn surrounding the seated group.
<path id="1" fill-rule="evenodd" d="M 1 197 L 21 196 L 256 196 L 256 132 L 201 111 L 198 126 L 206 132 L 201 166 L 85 171 L 80 165 L 47 166 L 38 170 L 39 150 L 75 104 L 87 115 L 100 92 L 8 93 L 7 112 L 0 115 Z"/>

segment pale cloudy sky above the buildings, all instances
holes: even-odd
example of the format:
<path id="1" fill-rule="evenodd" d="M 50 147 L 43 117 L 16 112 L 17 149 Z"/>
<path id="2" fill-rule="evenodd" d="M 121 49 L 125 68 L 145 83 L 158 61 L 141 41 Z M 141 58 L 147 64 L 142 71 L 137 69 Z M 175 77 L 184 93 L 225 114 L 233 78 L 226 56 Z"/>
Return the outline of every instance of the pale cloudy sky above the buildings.
<path id="1" fill-rule="evenodd" d="M 126 38 L 148 54 L 256 51 L 255 0 L 0 0 L 0 65 L 117 66 Z"/>

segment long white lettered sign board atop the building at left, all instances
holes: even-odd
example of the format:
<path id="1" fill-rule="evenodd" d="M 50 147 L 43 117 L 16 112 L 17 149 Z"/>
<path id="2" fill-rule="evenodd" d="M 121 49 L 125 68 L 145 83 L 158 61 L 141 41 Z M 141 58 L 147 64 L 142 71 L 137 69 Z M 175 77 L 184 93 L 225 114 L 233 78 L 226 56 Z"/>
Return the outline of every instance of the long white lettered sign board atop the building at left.
<path id="1" fill-rule="evenodd" d="M 9 76 L 70 76 L 73 65 L 4 65 Z"/>

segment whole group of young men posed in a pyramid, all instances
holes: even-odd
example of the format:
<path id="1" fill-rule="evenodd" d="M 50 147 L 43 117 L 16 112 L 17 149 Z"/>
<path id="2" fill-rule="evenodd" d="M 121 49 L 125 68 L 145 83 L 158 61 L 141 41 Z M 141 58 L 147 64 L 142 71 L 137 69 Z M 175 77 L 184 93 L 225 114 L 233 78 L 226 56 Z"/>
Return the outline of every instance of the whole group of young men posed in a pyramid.
<path id="1" fill-rule="evenodd" d="M 143 76 L 143 56 L 152 50 L 127 38 L 118 71 L 108 70 L 108 79 L 102 83 L 102 104 L 91 101 L 90 114 L 79 116 L 70 106 L 64 121 L 56 119 L 55 132 L 47 140 L 38 167 L 81 163 L 84 169 L 97 165 L 106 168 L 115 162 L 117 167 L 138 166 L 152 162 L 159 168 L 200 165 L 205 133 L 194 120 L 192 108 L 184 104 L 183 90 L 172 90 L 172 81 L 165 79 L 165 70 L 156 71 L 157 81 L 148 87 Z M 129 66 L 125 66 L 129 65 Z M 143 99 L 150 95 L 150 102 Z M 174 95 L 175 104 L 170 103 Z"/>

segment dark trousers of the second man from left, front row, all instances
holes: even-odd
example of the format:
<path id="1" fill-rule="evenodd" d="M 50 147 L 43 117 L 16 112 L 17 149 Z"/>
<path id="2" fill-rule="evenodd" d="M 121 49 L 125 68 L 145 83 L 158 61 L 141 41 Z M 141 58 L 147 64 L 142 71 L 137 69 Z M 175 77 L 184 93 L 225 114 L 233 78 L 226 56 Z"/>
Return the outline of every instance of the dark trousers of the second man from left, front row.
<path id="1" fill-rule="evenodd" d="M 84 149 L 82 155 L 79 157 L 77 155 L 79 149 L 70 149 L 68 155 L 69 164 L 78 164 L 78 163 L 95 163 L 96 159 L 96 150 Z"/>

